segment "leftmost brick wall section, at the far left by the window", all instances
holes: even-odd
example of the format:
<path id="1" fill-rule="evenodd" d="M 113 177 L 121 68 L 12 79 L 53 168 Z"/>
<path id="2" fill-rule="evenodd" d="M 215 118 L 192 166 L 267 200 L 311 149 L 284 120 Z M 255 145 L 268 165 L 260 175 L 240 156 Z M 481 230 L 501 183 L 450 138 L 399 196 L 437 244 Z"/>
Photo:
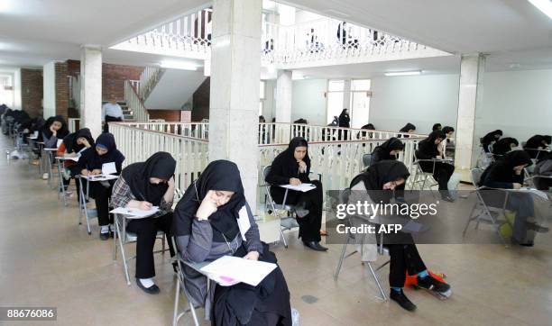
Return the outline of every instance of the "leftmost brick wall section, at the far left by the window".
<path id="1" fill-rule="evenodd" d="M 42 115 L 42 69 L 21 69 L 21 105 L 32 118 Z"/>

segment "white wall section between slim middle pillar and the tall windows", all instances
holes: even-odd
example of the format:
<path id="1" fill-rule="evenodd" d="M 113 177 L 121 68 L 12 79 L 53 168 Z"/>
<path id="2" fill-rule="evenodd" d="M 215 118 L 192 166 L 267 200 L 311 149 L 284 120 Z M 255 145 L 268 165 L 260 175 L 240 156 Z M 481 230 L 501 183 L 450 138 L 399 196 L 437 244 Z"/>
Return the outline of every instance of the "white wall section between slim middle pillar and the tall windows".
<path id="1" fill-rule="evenodd" d="M 291 122 L 300 118 L 308 124 L 327 125 L 326 97 L 327 79 L 302 79 L 293 81 Z"/>

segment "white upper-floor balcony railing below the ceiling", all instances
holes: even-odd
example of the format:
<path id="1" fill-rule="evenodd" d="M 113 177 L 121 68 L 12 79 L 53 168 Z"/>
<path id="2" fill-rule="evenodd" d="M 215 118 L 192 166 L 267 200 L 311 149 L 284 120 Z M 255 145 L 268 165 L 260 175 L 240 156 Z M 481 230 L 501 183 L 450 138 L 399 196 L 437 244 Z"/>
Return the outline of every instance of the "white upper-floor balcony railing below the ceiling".
<path id="1" fill-rule="evenodd" d="M 209 59 L 212 10 L 204 9 L 162 24 L 115 45 L 168 56 Z M 283 26 L 262 22 L 262 61 L 276 68 L 304 68 L 347 63 L 446 56 L 441 50 L 332 18 Z"/>

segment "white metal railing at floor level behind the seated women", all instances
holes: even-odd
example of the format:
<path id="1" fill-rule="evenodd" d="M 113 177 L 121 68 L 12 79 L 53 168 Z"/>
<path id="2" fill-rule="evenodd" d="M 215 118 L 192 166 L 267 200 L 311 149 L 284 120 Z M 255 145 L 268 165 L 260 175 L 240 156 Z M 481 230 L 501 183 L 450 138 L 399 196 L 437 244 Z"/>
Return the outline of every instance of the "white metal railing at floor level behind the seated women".
<path id="1" fill-rule="evenodd" d="M 187 127 L 189 125 L 189 129 Z M 177 159 L 177 178 L 180 189 L 185 189 L 207 166 L 208 140 L 205 123 L 126 123 L 111 122 L 109 130 L 115 135 L 117 147 L 126 157 L 124 164 L 144 161 L 157 151 L 167 151 Z M 183 131 L 177 134 L 175 131 Z M 191 131 L 191 133 L 188 133 Z M 186 134 L 186 135 L 184 135 Z M 391 136 L 392 132 L 382 131 L 382 135 Z M 198 136 L 198 137 L 195 137 Z M 410 135 L 402 139 L 405 149 L 400 152 L 399 160 L 404 162 L 411 173 L 414 151 L 419 140 L 425 137 Z M 349 186 L 352 178 L 363 170 L 363 155 L 372 153 L 385 138 L 363 140 L 310 141 L 308 154 L 311 170 L 322 176 L 326 189 L 343 189 Z M 271 165 L 274 158 L 287 149 L 288 141 L 260 144 L 260 170 Z M 259 172 L 260 173 L 260 172 Z"/>

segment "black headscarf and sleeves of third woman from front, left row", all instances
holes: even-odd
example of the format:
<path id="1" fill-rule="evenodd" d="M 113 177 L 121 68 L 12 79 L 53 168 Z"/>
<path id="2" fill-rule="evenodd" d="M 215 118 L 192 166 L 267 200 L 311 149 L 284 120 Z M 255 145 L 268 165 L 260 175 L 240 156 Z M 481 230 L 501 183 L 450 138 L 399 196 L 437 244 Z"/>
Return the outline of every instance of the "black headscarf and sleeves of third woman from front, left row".
<path id="1" fill-rule="evenodd" d="M 106 154 L 99 155 L 96 148 L 91 147 L 82 152 L 82 155 L 78 159 L 78 165 L 88 170 L 95 168 L 102 168 L 105 163 L 115 163 L 117 172 L 121 172 L 121 168 L 124 161 L 124 155 L 121 153 L 115 145 L 115 137 L 109 132 L 104 132 L 97 137 L 96 145 L 101 145 L 107 149 Z"/>

